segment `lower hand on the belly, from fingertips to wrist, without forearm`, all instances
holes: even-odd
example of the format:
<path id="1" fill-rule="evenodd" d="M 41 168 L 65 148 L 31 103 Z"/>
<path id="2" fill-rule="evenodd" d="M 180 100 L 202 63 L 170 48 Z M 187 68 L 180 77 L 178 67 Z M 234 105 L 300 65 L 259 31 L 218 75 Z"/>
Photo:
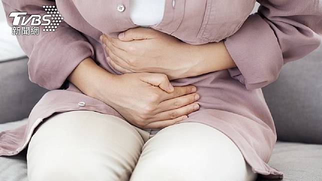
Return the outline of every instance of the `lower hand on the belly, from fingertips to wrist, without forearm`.
<path id="1" fill-rule="evenodd" d="M 165 74 L 125 73 L 100 84 L 99 99 L 141 128 L 163 128 L 199 108 L 193 85 L 173 87 Z M 107 82 L 108 81 L 108 82 Z"/>

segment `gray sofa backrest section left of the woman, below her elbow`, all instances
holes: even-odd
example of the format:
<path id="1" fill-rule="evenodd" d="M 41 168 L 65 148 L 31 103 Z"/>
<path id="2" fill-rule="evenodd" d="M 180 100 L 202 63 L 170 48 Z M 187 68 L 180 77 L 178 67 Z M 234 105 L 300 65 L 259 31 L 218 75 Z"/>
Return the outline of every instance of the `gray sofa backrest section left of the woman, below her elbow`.
<path id="1" fill-rule="evenodd" d="M 0 62 L 0 123 L 27 117 L 46 92 L 29 81 L 27 61 L 24 57 Z"/>

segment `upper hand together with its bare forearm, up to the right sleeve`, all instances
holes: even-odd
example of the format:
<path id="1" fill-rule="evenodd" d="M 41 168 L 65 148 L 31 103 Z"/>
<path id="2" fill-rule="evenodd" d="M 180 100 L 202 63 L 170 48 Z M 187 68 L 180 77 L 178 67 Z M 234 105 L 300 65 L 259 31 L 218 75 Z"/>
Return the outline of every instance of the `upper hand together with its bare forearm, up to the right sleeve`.
<path id="1" fill-rule="evenodd" d="M 170 80 L 235 67 L 223 41 L 191 45 L 151 28 L 137 27 L 118 38 L 101 36 L 116 70 L 163 73 Z"/>

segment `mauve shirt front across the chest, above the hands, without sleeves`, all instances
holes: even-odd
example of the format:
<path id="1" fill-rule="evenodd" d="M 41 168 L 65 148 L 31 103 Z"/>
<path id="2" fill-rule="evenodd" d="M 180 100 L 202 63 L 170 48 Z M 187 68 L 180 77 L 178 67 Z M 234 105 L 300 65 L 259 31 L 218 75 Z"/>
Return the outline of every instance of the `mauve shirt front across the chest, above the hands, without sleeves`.
<path id="1" fill-rule="evenodd" d="M 69 25 L 98 40 L 101 33 L 116 37 L 119 32 L 138 26 L 130 18 L 130 1 L 56 0 L 56 4 Z M 220 41 L 236 32 L 255 0 L 164 0 L 164 3 L 160 23 L 149 27 L 190 44 L 203 44 Z"/>

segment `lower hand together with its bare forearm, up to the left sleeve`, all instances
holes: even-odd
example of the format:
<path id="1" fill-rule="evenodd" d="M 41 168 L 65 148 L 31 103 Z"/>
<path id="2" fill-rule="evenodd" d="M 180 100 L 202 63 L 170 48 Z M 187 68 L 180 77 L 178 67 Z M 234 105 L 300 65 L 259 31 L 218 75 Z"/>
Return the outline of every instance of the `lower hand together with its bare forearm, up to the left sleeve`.
<path id="1" fill-rule="evenodd" d="M 196 111 L 196 87 L 173 87 L 160 73 L 114 75 L 91 58 L 81 61 L 68 77 L 83 93 L 117 110 L 128 122 L 142 128 L 162 128 Z"/>

